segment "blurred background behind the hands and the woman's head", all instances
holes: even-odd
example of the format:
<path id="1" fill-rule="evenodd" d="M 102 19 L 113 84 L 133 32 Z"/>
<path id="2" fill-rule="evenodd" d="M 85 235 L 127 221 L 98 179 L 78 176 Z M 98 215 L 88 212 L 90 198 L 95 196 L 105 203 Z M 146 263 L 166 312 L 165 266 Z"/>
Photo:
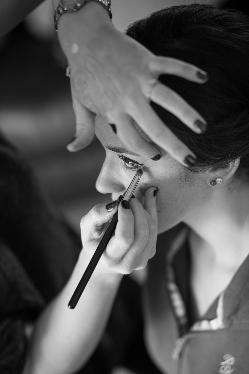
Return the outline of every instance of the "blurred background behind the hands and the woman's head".
<path id="1" fill-rule="evenodd" d="M 175 0 L 112 0 L 120 31 Z M 197 1 L 248 11 L 247 2 Z M 95 190 L 105 151 L 97 139 L 77 153 L 66 150 L 75 133 L 65 57 L 57 43 L 51 0 L 0 39 L 0 131 L 28 157 L 45 193 L 80 232 L 80 219 L 97 203 L 111 201 Z"/>

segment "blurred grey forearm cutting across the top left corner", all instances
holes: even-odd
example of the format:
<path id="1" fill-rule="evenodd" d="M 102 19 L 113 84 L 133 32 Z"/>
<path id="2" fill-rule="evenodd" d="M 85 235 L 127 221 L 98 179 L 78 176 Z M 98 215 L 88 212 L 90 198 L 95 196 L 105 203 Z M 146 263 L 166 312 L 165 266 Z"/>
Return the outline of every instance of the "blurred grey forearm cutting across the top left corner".
<path id="1" fill-rule="evenodd" d="M 44 0 L 1 0 L 0 37 L 23 21 Z"/>

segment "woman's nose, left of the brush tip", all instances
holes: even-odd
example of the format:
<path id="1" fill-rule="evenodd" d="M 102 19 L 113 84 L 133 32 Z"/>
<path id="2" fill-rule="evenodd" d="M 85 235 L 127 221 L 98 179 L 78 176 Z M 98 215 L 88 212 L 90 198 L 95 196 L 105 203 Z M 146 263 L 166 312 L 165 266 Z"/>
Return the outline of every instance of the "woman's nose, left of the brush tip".
<path id="1" fill-rule="evenodd" d="M 106 157 L 96 180 L 96 190 L 103 194 L 123 192 L 125 186 L 121 174 L 115 163 Z"/>

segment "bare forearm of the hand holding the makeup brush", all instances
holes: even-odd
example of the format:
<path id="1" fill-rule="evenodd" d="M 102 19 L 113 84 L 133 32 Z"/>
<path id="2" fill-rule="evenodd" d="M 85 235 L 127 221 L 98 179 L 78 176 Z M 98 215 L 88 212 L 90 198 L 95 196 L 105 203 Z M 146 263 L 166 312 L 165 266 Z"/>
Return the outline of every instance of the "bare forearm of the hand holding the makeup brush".
<path id="1" fill-rule="evenodd" d="M 82 252 L 69 282 L 35 326 L 23 374 L 74 373 L 97 346 L 122 276 L 99 274 L 96 269 L 71 310 L 68 302 L 86 266 Z"/>

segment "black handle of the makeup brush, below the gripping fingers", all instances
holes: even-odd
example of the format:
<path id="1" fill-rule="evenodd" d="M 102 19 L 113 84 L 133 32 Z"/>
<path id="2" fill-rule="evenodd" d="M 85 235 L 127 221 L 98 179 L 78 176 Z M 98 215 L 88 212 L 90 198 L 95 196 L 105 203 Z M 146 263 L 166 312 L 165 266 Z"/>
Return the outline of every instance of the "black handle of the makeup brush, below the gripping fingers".
<path id="1" fill-rule="evenodd" d="M 118 222 L 118 212 L 116 212 L 111 220 L 111 223 L 109 224 L 108 228 L 106 229 L 106 232 L 102 239 L 100 240 L 99 245 L 97 246 L 96 251 L 93 254 L 93 257 L 90 260 L 90 263 L 88 264 L 87 268 L 85 269 L 85 272 L 76 287 L 74 294 L 71 297 L 71 300 L 69 301 L 68 307 L 70 309 L 74 309 L 80 300 L 80 297 L 82 295 L 82 292 L 85 289 L 85 286 L 87 285 L 91 275 L 93 274 L 93 270 L 96 268 L 97 263 L 99 262 L 100 257 L 102 256 L 103 252 L 106 249 L 106 246 L 108 245 L 109 240 L 111 239 Z"/>

